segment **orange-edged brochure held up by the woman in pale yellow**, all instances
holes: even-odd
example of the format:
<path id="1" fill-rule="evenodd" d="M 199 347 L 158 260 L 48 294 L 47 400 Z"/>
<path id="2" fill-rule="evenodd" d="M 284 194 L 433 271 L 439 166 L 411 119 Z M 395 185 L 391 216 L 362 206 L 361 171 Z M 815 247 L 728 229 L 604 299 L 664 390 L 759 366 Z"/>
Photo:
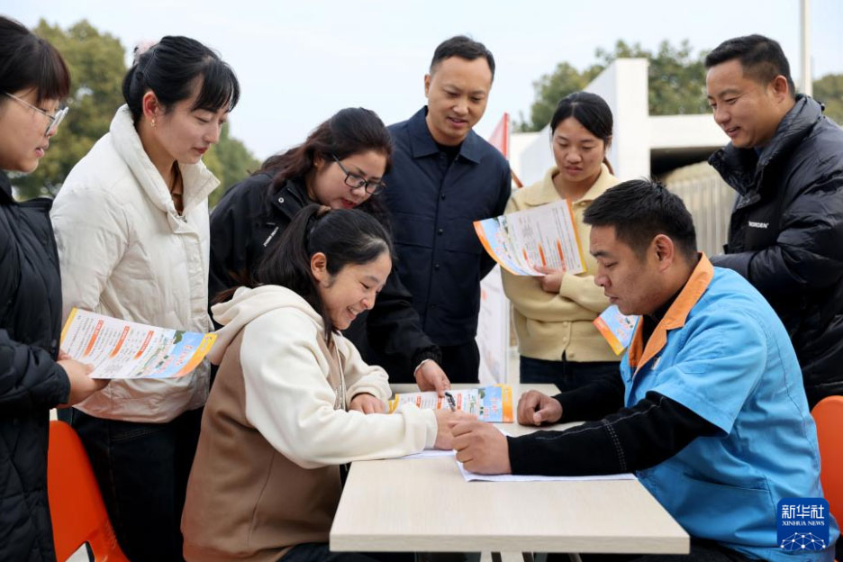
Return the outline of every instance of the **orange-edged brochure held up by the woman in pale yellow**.
<path id="1" fill-rule="evenodd" d="M 542 276 L 539 266 L 573 274 L 585 271 L 574 210 L 565 199 L 474 225 L 485 250 L 513 275 Z"/>

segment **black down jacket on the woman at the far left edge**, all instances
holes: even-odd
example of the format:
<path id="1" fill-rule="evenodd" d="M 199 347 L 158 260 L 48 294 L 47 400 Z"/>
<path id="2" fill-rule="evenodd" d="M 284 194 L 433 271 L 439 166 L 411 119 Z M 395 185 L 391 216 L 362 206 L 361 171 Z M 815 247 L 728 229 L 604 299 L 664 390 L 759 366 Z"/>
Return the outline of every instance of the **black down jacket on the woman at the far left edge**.
<path id="1" fill-rule="evenodd" d="M 55 560 L 47 503 L 49 410 L 68 401 L 50 201 L 17 204 L 0 172 L 0 560 Z"/>

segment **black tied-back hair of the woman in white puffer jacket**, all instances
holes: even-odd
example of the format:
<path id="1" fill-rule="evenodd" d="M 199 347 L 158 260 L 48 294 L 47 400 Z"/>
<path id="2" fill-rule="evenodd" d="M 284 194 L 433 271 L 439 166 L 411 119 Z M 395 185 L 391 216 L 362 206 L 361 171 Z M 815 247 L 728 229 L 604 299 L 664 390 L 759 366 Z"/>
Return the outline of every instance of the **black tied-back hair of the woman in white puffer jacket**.
<path id="1" fill-rule="evenodd" d="M 202 87 L 191 110 L 234 109 L 240 100 L 240 83 L 234 71 L 199 41 L 168 35 L 149 50 L 136 54 L 122 83 L 123 98 L 134 122 L 141 120 L 143 95 L 148 90 L 167 111 L 173 104 L 190 98 L 197 77 L 202 78 Z"/>

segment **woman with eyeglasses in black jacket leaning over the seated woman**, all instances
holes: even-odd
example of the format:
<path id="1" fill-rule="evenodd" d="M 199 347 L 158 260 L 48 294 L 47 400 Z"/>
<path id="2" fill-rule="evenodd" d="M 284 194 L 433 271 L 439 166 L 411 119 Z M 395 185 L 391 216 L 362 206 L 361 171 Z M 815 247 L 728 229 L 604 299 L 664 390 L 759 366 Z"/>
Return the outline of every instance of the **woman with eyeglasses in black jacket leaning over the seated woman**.
<path id="1" fill-rule="evenodd" d="M 267 159 L 232 186 L 211 213 L 211 300 L 248 285 L 269 244 L 307 204 L 359 208 L 387 225 L 378 195 L 386 189 L 392 151 L 376 113 L 347 108 L 322 122 L 303 144 Z M 422 390 L 441 394 L 449 388 L 440 350 L 421 330 L 412 297 L 394 272 L 372 310 L 358 312 L 344 334 L 368 363 L 387 367 L 393 380 L 414 380 Z"/>

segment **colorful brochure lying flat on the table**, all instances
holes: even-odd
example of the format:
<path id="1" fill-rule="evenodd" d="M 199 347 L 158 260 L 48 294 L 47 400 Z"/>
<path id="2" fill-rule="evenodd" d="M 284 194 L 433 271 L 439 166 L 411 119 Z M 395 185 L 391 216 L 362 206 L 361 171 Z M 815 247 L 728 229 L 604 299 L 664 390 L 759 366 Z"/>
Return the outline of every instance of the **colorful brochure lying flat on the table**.
<path id="1" fill-rule="evenodd" d="M 467 390 L 450 390 L 456 409 L 473 413 L 480 421 L 512 423 L 512 386 L 490 385 Z M 403 404 L 412 404 L 422 410 L 443 410 L 449 407 L 447 398 L 440 398 L 435 392 L 395 394 L 389 401 L 389 413 Z"/>

